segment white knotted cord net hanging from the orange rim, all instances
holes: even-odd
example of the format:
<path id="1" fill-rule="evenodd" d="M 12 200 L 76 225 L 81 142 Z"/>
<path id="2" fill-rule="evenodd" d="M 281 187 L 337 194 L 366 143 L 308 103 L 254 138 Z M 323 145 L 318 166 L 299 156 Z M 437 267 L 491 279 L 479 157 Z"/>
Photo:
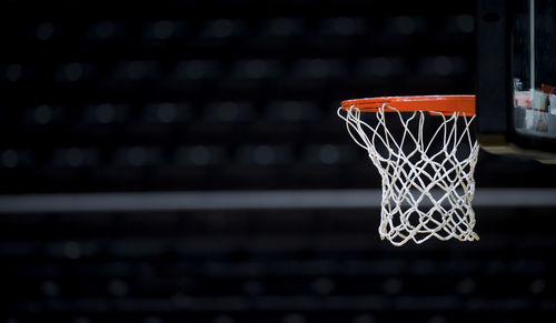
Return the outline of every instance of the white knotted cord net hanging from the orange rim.
<path id="1" fill-rule="evenodd" d="M 365 122 L 356 107 L 338 110 L 349 134 L 367 150 L 381 175 L 378 232 L 394 245 L 409 240 L 423 243 L 433 236 L 479 239 L 473 231 L 471 208 L 478 143 L 469 127 L 475 117 L 430 113 L 438 115 L 399 112 L 384 104 L 377 112 L 365 113 L 376 117 Z"/>

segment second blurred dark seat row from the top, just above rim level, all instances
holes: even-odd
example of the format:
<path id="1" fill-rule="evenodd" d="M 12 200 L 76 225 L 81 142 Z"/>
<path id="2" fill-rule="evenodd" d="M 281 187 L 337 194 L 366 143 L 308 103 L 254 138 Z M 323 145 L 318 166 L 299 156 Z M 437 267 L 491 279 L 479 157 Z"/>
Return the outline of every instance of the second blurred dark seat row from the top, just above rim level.
<path id="1" fill-rule="evenodd" d="M 387 78 L 417 73 L 424 77 L 464 75 L 471 62 L 461 55 L 376 57 L 358 60 L 336 58 L 307 58 L 292 62 L 277 59 L 238 59 L 230 63 L 219 60 L 191 59 L 171 64 L 156 60 L 118 62 L 77 61 L 66 63 L 11 62 L 0 69 L 0 81 L 19 82 L 49 80 L 54 82 L 113 81 L 199 81 L 199 80 L 280 80 L 337 79 L 342 75 L 358 78 Z M 50 72 L 52 70 L 53 72 Z M 50 73 L 50 74 L 49 74 Z"/>

